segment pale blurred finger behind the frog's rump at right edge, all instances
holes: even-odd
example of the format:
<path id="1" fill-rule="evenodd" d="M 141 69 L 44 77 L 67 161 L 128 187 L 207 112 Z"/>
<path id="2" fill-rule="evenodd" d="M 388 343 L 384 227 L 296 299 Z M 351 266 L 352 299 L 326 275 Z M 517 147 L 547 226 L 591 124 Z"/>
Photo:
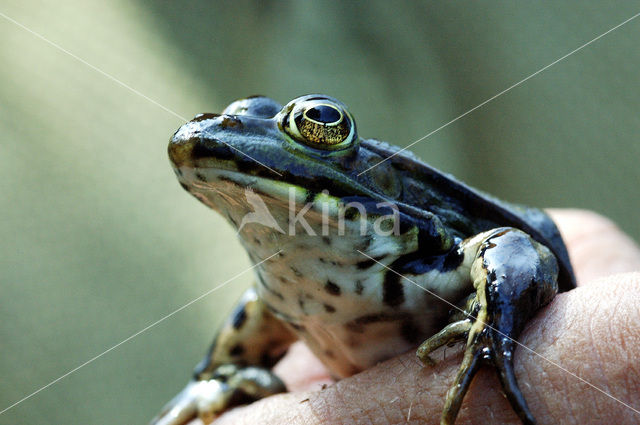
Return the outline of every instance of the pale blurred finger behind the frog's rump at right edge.
<path id="1" fill-rule="evenodd" d="M 578 284 L 640 270 L 640 249 L 611 220 L 586 210 L 548 210 L 558 225 Z"/>

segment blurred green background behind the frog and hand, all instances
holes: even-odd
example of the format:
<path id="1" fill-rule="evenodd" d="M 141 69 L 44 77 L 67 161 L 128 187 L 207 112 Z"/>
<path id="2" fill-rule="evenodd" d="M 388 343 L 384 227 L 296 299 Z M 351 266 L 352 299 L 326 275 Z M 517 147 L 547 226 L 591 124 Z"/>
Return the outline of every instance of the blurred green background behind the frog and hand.
<path id="1" fill-rule="evenodd" d="M 0 12 L 181 116 L 252 94 L 350 106 L 406 146 L 640 12 L 628 2 L 4 0 Z M 0 410 L 244 270 L 180 189 L 182 121 L 0 17 Z M 502 198 L 640 236 L 640 19 L 424 140 Z M 245 274 L 0 415 L 140 424 L 191 373 Z"/>

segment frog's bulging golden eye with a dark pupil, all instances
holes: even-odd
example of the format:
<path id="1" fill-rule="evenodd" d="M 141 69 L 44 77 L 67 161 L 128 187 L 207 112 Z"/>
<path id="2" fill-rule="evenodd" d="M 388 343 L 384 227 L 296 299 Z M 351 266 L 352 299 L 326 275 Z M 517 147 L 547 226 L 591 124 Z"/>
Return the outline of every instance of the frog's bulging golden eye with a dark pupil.
<path id="1" fill-rule="evenodd" d="M 282 126 L 289 136 L 316 149 L 351 146 L 356 139 L 355 123 L 344 106 L 326 97 L 303 99 L 283 109 Z"/>

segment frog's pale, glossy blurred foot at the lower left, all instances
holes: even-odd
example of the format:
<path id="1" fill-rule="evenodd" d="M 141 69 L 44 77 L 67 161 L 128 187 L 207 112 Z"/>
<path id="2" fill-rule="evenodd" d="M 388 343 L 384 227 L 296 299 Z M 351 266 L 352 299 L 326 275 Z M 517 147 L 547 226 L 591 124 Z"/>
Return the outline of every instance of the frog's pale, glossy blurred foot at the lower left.
<path id="1" fill-rule="evenodd" d="M 282 381 L 260 367 L 218 367 L 212 379 L 191 381 L 150 425 L 184 425 L 200 418 L 210 424 L 225 410 L 286 391 Z"/>

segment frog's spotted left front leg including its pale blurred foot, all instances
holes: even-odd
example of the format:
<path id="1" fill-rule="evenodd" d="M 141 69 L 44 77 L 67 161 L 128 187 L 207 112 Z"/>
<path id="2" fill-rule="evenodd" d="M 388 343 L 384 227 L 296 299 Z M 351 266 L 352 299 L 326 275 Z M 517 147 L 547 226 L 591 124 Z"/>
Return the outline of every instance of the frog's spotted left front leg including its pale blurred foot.
<path id="1" fill-rule="evenodd" d="M 207 424 L 232 406 L 286 391 L 270 368 L 294 340 L 248 289 L 196 366 L 193 380 L 151 424 L 182 425 L 195 417 Z"/>

